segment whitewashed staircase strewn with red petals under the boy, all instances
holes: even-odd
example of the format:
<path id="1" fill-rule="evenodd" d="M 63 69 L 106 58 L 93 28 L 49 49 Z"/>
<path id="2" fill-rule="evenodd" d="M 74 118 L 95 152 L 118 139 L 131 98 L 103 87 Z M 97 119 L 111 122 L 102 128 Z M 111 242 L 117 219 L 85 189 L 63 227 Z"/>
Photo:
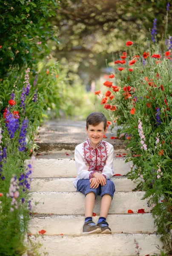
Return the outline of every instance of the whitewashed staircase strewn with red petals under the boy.
<path id="1" fill-rule="evenodd" d="M 114 158 L 115 174 L 126 175 L 129 165 L 123 158 Z M 29 225 L 30 239 L 40 241 L 39 252 L 49 256 L 134 256 L 134 239 L 142 248 L 140 256 L 160 253 L 160 238 L 144 192 L 132 192 L 136 183 L 125 176 L 114 176 L 115 195 L 107 217 L 112 234 L 83 235 L 84 195 L 76 192 L 73 179 L 77 176 L 74 159 L 36 159 L 30 196 L 33 215 Z M 36 203 L 36 204 L 35 204 Z M 145 209 L 138 214 L 138 209 Z M 131 209 L 134 213 L 128 214 Z M 95 201 L 93 221 L 100 213 L 100 197 Z M 46 230 L 38 238 L 34 235 Z"/>

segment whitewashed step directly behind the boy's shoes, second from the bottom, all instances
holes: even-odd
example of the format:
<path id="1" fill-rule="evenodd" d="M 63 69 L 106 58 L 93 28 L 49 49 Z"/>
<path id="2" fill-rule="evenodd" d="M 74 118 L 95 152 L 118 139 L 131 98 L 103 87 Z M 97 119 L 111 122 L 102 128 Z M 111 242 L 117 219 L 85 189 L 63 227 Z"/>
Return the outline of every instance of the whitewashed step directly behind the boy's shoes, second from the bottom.
<path id="1" fill-rule="evenodd" d="M 99 216 L 93 217 L 97 223 Z M 81 235 L 85 217 L 81 215 L 52 215 L 37 216 L 31 219 L 29 233 L 38 234 L 46 230 L 46 235 Z M 112 233 L 154 233 L 155 227 L 151 213 L 144 214 L 112 214 L 106 221 Z"/>

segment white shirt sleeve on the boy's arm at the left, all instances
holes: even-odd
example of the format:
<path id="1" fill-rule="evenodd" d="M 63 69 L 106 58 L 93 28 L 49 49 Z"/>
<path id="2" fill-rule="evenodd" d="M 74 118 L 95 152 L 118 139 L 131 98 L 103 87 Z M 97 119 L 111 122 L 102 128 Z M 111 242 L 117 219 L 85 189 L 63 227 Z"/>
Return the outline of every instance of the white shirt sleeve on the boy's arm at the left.
<path id="1" fill-rule="evenodd" d="M 86 166 L 82 155 L 80 152 L 75 148 L 75 164 L 77 168 L 77 175 L 80 179 L 90 179 L 92 174 L 88 171 L 88 167 Z"/>

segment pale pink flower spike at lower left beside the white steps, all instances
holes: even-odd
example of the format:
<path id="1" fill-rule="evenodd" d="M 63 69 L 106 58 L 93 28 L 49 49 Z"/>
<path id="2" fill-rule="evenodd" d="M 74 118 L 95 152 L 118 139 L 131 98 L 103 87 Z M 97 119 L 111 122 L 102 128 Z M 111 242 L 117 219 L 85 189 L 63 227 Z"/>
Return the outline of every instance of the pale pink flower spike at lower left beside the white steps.
<path id="1" fill-rule="evenodd" d="M 20 193 L 18 192 L 19 186 L 17 183 L 16 177 L 12 177 L 10 180 L 10 187 L 9 187 L 9 193 L 6 194 L 6 196 L 9 198 L 12 198 L 11 206 L 13 206 L 15 209 L 18 208 L 17 205 L 17 198 L 19 197 Z M 14 208 L 10 208 L 10 212 L 14 211 Z"/>

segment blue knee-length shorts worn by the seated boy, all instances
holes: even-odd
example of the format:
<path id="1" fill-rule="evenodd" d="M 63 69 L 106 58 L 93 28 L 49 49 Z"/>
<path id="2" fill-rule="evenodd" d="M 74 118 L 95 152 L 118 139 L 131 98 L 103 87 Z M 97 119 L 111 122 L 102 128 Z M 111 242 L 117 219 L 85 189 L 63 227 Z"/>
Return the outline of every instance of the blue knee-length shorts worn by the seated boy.
<path id="1" fill-rule="evenodd" d="M 115 193 L 115 185 L 111 180 L 106 180 L 106 185 L 101 186 L 100 184 L 97 189 L 91 189 L 89 179 L 81 179 L 77 181 L 77 191 L 83 193 L 85 196 L 89 192 L 94 192 L 95 198 L 97 198 L 97 195 L 100 195 L 102 198 L 104 194 L 109 194 L 113 198 Z"/>

